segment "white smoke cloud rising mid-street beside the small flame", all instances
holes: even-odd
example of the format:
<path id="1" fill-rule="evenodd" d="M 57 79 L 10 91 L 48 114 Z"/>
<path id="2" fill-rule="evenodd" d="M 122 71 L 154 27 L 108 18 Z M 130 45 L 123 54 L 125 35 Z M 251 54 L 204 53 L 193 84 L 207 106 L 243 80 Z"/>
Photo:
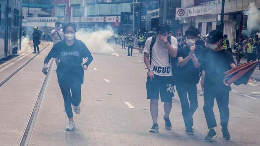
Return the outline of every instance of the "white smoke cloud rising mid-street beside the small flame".
<path id="1" fill-rule="evenodd" d="M 111 28 L 99 29 L 97 31 L 80 29 L 76 32 L 76 38 L 84 42 L 92 53 L 118 56 L 118 53 L 107 42 L 113 34 L 113 29 Z"/>

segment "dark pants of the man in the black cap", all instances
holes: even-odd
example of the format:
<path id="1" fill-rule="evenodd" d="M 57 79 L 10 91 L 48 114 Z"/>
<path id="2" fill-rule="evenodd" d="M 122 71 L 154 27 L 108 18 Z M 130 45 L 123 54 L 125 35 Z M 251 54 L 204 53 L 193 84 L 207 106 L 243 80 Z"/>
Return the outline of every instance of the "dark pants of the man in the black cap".
<path id="1" fill-rule="evenodd" d="M 220 125 L 223 128 L 228 128 L 228 119 L 229 119 L 229 91 L 217 91 L 214 89 L 205 88 L 204 89 L 204 114 L 206 117 L 206 122 L 208 128 L 213 128 L 217 126 L 215 115 L 213 112 L 214 99 L 216 97 L 217 106 L 220 112 Z"/>

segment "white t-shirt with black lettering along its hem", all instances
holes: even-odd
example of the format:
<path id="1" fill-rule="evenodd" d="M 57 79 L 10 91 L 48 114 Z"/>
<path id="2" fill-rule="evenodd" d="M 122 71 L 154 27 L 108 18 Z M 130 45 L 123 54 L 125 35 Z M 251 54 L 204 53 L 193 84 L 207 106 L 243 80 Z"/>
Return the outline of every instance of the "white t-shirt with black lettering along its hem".
<path id="1" fill-rule="evenodd" d="M 171 46 L 178 48 L 178 42 L 175 37 L 171 37 Z M 150 54 L 150 45 L 152 37 L 148 38 L 145 42 L 144 52 Z M 154 70 L 154 74 L 158 76 L 172 76 L 172 65 L 169 63 L 169 52 L 163 42 L 155 41 L 152 47 L 152 61 L 151 67 Z"/>

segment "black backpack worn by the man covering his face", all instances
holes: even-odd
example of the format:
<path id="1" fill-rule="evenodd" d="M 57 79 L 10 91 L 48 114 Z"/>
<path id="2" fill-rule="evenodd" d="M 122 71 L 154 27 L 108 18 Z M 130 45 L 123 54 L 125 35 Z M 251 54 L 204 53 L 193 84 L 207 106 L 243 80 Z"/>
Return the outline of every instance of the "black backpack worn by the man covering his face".
<path id="1" fill-rule="evenodd" d="M 156 41 L 156 35 L 152 36 L 152 42 L 151 42 L 151 45 L 150 45 L 150 64 L 152 62 L 152 47 L 153 45 L 155 44 L 155 41 Z M 168 42 L 171 44 L 171 36 L 167 36 L 167 40 Z M 176 73 L 177 73 L 177 63 L 178 63 L 178 60 L 177 60 L 177 57 L 176 58 L 173 58 L 170 56 L 170 53 L 169 53 L 169 63 L 172 63 L 172 73 L 173 73 L 173 78 L 176 77 Z"/>

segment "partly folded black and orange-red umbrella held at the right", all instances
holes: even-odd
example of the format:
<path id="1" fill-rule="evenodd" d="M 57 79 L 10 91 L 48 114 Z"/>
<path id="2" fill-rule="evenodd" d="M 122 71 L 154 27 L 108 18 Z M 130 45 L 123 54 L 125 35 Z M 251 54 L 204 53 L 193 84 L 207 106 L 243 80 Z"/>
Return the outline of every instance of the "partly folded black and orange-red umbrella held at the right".
<path id="1" fill-rule="evenodd" d="M 254 72 L 256 66 L 260 61 L 251 61 L 238 65 L 224 73 L 225 77 L 223 83 L 226 86 L 234 83 L 235 85 L 247 84 L 251 78 L 252 73 Z"/>

